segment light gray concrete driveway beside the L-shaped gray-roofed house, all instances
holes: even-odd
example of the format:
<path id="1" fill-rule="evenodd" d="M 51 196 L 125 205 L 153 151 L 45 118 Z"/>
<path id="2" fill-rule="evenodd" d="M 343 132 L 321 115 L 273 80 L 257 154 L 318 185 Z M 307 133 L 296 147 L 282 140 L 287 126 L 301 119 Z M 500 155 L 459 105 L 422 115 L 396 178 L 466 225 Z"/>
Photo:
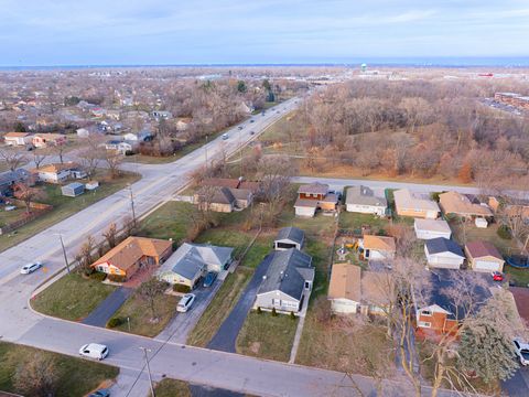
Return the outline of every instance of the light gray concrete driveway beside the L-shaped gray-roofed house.
<path id="1" fill-rule="evenodd" d="M 209 288 L 199 287 L 193 291 L 196 296 L 195 303 L 186 313 L 177 313 L 169 325 L 155 337 L 161 342 L 173 342 L 185 344 L 187 335 L 195 328 L 204 311 L 209 305 L 218 289 L 224 282 L 224 278 L 217 277 Z"/>

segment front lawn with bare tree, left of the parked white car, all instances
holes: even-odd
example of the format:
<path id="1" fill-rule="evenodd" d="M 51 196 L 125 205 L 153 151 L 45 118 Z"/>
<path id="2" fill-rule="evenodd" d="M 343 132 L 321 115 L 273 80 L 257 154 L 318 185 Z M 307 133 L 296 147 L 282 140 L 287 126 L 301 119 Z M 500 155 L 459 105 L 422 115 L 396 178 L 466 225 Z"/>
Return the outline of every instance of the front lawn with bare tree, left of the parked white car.
<path id="1" fill-rule="evenodd" d="M 148 302 L 142 300 L 138 293 L 133 293 L 121 308 L 114 314 L 114 318 L 120 318 L 123 323 L 115 330 L 129 332 L 127 318 L 130 320 L 130 333 L 154 337 L 162 332 L 171 319 L 176 313 L 176 304 L 180 298 L 173 296 L 161 296 L 156 298 L 158 321 L 153 322 L 152 312 Z"/>

